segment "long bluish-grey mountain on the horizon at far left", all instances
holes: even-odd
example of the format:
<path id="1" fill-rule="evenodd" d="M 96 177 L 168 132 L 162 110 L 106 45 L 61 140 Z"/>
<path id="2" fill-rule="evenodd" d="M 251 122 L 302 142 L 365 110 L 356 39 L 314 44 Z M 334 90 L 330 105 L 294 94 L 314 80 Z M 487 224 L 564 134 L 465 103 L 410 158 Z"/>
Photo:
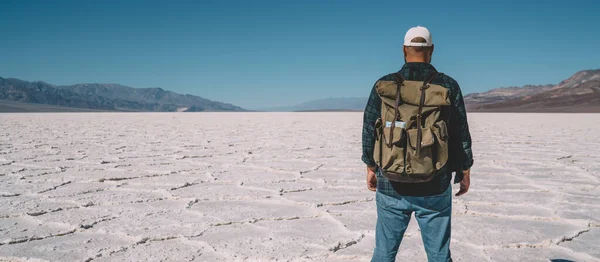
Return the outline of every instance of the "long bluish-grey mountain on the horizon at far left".
<path id="1" fill-rule="evenodd" d="M 98 111 L 245 111 L 231 104 L 182 95 L 162 88 L 132 88 L 118 84 L 55 86 L 39 81 L 28 82 L 1 77 L 0 100 Z M 14 107 L 14 104 L 11 106 Z M 2 108 L 7 107 L 0 107 L 0 110 Z M 26 105 L 23 108 L 26 111 L 44 111 L 44 108 L 49 107 Z"/>

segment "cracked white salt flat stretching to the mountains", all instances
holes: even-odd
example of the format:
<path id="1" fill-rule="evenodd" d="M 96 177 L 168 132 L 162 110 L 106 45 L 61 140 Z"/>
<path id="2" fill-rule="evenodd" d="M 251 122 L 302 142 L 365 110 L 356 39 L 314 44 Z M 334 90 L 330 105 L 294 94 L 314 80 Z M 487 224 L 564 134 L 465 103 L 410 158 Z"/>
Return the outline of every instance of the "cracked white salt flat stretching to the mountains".
<path id="1" fill-rule="evenodd" d="M 600 115 L 469 120 L 454 260 L 600 261 Z M 368 261 L 361 125 L 362 113 L 0 114 L 0 260 Z M 398 260 L 426 261 L 411 223 Z"/>

